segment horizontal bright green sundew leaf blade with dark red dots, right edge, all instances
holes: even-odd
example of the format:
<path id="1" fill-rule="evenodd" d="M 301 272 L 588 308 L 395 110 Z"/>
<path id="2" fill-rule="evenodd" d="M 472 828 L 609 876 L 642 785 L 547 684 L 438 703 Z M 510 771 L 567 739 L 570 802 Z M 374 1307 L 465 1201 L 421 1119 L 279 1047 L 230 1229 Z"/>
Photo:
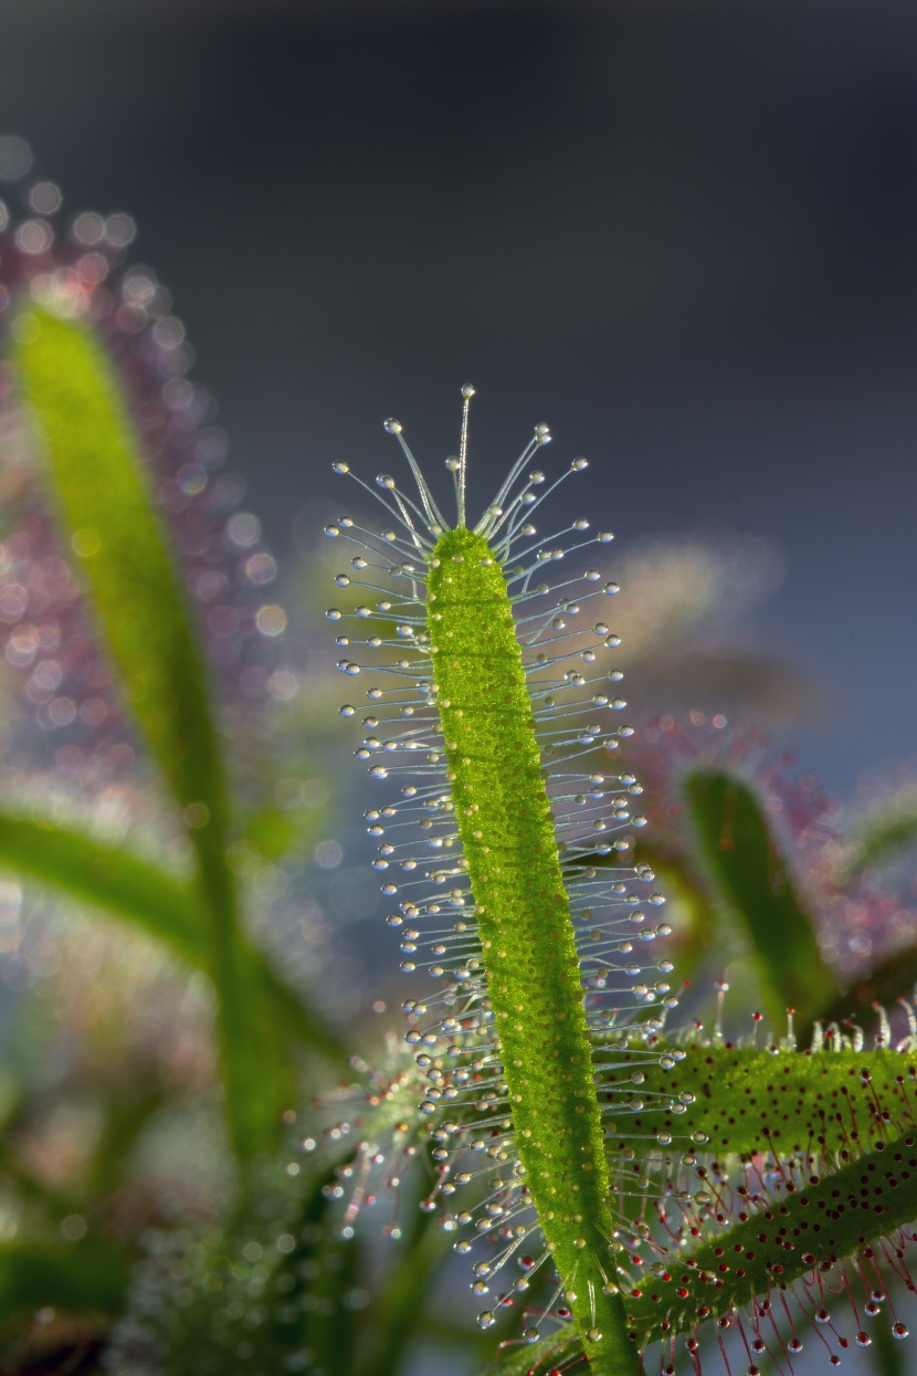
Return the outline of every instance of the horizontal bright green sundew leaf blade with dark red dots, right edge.
<path id="1" fill-rule="evenodd" d="M 899 1051 L 756 1051 L 752 1047 L 693 1046 L 670 1071 L 641 1065 L 646 1113 L 621 1113 L 609 1132 L 612 1152 L 671 1134 L 685 1142 L 703 1135 L 705 1152 L 751 1156 L 755 1152 L 811 1152 L 832 1156 L 874 1146 L 892 1132 L 917 1126 L 917 1057 Z M 602 1075 L 606 1101 L 634 1087 L 632 1065 Z M 615 1090 L 615 1086 L 620 1088 Z M 623 1093 L 621 1093 L 623 1091 Z M 624 1098 L 623 1095 L 627 1095 Z M 682 1113 L 668 1105 L 682 1095 Z M 609 1109 L 613 1113 L 613 1109 Z M 887 1120 L 881 1115 L 888 1115 Z"/>

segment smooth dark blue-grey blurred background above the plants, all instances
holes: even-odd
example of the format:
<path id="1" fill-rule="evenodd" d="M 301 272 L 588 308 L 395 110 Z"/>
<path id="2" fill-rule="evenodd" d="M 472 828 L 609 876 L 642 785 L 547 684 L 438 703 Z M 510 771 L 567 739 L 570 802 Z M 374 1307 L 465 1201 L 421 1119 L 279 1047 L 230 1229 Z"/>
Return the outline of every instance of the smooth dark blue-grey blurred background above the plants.
<path id="1" fill-rule="evenodd" d="M 481 501 L 547 420 L 568 515 L 771 538 L 800 764 L 917 754 L 913 0 L 3 0 L 0 131 L 136 217 L 280 553 L 473 381 Z"/>

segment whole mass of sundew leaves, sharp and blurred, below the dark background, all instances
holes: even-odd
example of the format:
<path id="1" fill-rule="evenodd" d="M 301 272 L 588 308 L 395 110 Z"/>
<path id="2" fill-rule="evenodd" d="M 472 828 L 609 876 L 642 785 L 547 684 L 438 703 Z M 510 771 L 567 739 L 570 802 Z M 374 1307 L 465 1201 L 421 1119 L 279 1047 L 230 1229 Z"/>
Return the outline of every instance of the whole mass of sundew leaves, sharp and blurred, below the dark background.
<path id="1" fill-rule="evenodd" d="M 551 515 L 586 460 L 544 462 L 538 425 L 470 513 L 465 387 L 448 509 L 389 420 L 404 480 L 356 479 L 384 520 L 326 527 L 412 984 L 388 1042 L 335 1029 L 333 970 L 294 978 L 271 932 L 313 839 L 290 731 L 324 733 L 326 695 L 279 654 L 276 564 L 129 222 L 65 223 L 47 182 L 22 200 L 0 206 L 4 1376 L 903 1372 L 913 787 L 841 813 L 723 714 L 627 707 L 610 531 Z"/>

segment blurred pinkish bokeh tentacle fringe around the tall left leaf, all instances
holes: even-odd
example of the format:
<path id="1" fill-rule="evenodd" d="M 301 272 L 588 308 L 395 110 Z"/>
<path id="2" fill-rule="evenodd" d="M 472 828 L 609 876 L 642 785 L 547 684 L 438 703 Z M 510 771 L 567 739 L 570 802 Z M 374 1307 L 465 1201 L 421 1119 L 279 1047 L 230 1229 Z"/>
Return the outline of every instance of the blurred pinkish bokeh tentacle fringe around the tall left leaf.
<path id="1" fill-rule="evenodd" d="M 60 191 L 47 180 L 27 182 L 22 202 L 21 217 L 0 202 L 0 315 L 33 300 L 99 330 L 129 399 L 221 705 L 238 725 L 272 694 L 289 696 L 289 671 L 272 677 L 286 615 L 265 592 L 276 563 L 260 523 L 238 509 L 243 484 L 221 472 L 225 438 L 213 424 L 213 403 L 186 376 L 194 354 L 184 325 L 155 274 L 125 266 L 135 235 L 129 216 L 82 212 L 65 222 Z M 55 766 L 73 772 L 91 764 L 93 773 L 124 775 L 133 762 L 129 733 L 3 367 L 0 502 L 5 662 L 51 738 Z M 236 740 L 243 735 L 234 732 Z"/>

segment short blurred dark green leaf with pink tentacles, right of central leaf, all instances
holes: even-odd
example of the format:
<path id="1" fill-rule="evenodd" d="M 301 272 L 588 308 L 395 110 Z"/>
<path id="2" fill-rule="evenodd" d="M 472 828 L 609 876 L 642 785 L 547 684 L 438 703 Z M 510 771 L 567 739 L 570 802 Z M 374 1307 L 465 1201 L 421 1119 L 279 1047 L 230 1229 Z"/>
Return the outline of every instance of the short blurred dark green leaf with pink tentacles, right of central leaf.
<path id="1" fill-rule="evenodd" d="M 705 772 L 685 780 L 685 797 L 709 874 L 748 927 L 770 1015 L 780 1026 L 792 1007 L 811 1021 L 837 982 L 758 799 L 729 775 Z"/>

